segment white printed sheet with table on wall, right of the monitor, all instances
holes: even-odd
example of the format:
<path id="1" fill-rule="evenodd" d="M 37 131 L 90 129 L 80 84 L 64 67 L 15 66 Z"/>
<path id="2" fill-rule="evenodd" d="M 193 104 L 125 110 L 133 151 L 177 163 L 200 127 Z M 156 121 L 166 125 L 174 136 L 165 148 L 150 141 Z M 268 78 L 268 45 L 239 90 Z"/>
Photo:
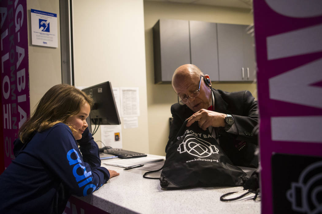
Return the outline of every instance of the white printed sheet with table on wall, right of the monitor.
<path id="1" fill-rule="evenodd" d="M 121 114 L 122 117 L 140 116 L 139 88 L 121 88 Z"/>

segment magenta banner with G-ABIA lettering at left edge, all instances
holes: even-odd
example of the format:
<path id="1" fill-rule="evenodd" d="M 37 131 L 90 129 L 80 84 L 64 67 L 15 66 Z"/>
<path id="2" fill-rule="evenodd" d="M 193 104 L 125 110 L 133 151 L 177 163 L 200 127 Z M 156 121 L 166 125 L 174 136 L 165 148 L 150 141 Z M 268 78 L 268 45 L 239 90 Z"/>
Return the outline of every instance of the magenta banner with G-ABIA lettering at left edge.
<path id="1" fill-rule="evenodd" d="M 13 155 L 18 129 L 30 115 L 26 0 L 1 1 L 1 123 L 4 164 Z"/>

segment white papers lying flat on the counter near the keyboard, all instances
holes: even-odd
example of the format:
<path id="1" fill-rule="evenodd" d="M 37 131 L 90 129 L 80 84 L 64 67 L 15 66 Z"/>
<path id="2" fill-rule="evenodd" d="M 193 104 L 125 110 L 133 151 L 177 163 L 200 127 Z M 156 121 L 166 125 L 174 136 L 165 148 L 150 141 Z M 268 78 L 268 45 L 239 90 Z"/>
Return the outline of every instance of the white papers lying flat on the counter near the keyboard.
<path id="1" fill-rule="evenodd" d="M 114 166 L 114 167 L 134 167 L 138 165 L 145 165 L 154 163 L 157 161 L 162 161 L 163 158 L 148 158 L 148 157 L 142 157 L 142 158 L 128 158 L 128 159 L 119 159 L 114 161 L 109 161 L 108 163 L 104 163 L 105 165 Z"/>

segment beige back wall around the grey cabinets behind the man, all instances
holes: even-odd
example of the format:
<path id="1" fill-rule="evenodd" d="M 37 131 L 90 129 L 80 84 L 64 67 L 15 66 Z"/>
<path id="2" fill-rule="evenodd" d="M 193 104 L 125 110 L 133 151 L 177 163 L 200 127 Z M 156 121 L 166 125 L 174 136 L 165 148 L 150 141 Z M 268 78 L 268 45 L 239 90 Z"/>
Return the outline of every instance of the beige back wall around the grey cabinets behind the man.
<path id="1" fill-rule="evenodd" d="M 252 13 L 244 9 L 144 1 L 149 152 L 156 155 L 165 155 L 169 135 L 168 119 L 171 117 L 170 107 L 177 101 L 171 84 L 154 84 L 152 27 L 161 18 L 231 24 L 253 22 Z M 257 96 L 255 83 L 215 83 L 213 88 L 225 91 L 250 90 L 254 97 Z"/>

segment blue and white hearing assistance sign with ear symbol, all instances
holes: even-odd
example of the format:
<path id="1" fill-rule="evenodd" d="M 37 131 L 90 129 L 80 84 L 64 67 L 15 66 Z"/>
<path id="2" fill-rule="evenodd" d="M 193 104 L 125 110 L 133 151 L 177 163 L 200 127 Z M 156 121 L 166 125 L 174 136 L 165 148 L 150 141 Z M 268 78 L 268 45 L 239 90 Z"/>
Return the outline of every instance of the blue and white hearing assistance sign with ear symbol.
<path id="1" fill-rule="evenodd" d="M 31 9 L 31 40 L 33 45 L 58 47 L 56 13 Z"/>

